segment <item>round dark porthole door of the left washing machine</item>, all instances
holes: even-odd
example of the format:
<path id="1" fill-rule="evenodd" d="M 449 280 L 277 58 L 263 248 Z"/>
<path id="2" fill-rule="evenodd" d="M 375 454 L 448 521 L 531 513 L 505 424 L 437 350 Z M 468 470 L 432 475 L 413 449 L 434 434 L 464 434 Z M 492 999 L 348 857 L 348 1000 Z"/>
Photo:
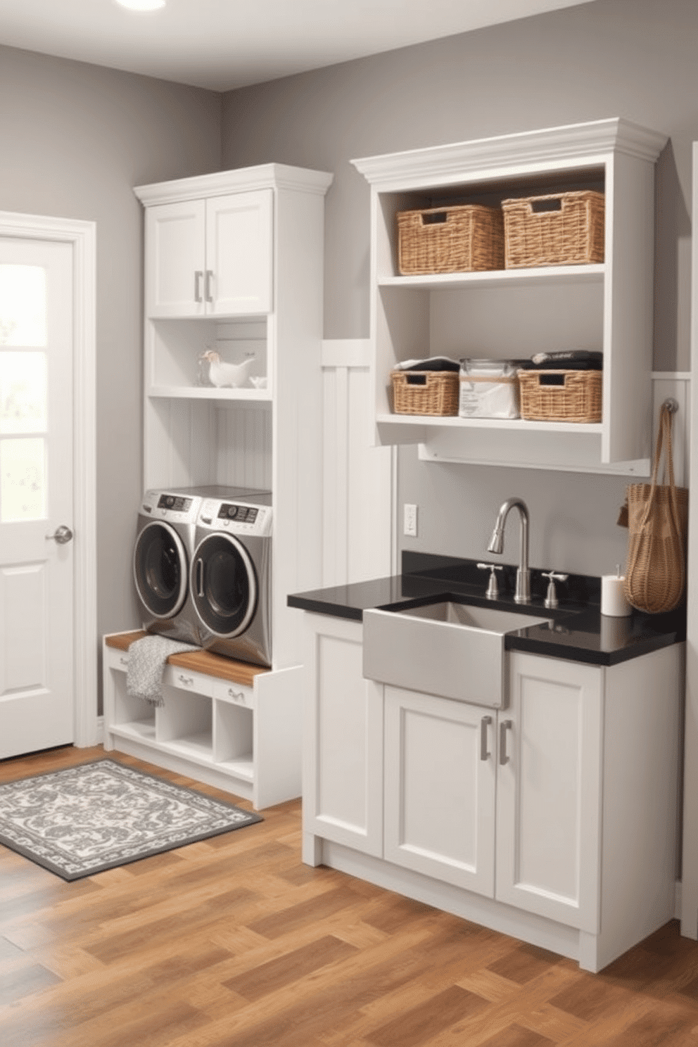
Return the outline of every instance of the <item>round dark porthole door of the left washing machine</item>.
<path id="1" fill-rule="evenodd" d="M 187 592 L 186 550 L 177 532 L 162 520 L 145 525 L 133 552 L 133 576 L 140 601 L 154 618 L 174 618 Z"/>

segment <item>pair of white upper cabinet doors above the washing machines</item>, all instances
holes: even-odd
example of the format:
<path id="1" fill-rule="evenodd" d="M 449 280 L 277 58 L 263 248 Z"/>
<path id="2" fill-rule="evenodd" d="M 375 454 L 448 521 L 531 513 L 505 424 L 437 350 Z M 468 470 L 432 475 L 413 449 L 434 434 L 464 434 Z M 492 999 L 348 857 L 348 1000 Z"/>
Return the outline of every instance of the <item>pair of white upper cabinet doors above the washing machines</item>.
<path id="1" fill-rule="evenodd" d="M 272 248 L 271 190 L 149 207 L 147 315 L 249 316 L 270 312 Z"/>

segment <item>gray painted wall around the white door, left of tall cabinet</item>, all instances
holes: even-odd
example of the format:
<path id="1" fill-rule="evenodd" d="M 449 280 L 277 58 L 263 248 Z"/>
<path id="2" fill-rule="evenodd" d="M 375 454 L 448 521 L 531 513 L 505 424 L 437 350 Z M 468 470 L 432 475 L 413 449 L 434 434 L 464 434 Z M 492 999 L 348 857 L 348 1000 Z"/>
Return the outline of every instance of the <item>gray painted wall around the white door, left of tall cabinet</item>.
<path id="1" fill-rule="evenodd" d="M 142 213 L 133 186 L 217 171 L 221 96 L 0 47 L 0 209 L 96 222 L 97 625 L 138 624 Z"/>

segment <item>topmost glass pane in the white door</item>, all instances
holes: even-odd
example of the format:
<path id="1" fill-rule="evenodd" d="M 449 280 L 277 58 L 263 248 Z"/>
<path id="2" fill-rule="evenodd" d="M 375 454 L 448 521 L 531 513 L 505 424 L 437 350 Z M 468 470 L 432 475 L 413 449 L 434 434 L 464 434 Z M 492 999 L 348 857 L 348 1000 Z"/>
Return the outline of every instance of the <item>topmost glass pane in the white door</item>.
<path id="1" fill-rule="evenodd" d="M 0 264 L 0 346 L 46 346 L 46 271 Z"/>

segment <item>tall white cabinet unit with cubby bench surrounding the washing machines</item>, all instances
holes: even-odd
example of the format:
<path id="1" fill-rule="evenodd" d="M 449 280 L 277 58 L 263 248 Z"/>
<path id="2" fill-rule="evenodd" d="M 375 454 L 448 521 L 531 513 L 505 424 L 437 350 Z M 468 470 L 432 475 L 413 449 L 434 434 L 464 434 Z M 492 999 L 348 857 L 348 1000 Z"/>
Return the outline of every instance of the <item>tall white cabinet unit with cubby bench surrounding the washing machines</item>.
<path id="1" fill-rule="evenodd" d="M 301 623 L 286 598 L 322 580 L 331 182 L 324 172 L 270 163 L 135 190 L 145 227 L 143 484 L 271 491 L 273 650 L 271 668 L 251 674 L 205 651 L 174 655 L 164 706 L 153 709 L 127 693 L 128 634 L 106 638 L 105 748 L 257 808 L 300 795 Z M 207 384 L 206 350 L 230 364 L 253 358 L 245 381 Z"/>

